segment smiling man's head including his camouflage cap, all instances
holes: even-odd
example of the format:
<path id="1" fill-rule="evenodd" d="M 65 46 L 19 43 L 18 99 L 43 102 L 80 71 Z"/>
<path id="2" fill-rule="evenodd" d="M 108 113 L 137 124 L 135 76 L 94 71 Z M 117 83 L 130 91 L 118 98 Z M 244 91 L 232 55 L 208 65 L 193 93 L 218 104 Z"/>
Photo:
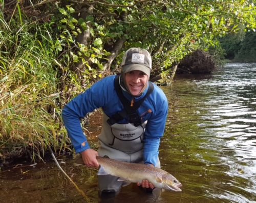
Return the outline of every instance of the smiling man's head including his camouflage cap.
<path id="1" fill-rule="evenodd" d="M 121 66 L 121 78 L 126 90 L 133 96 L 141 95 L 147 87 L 152 69 L 150 53 L 131 48 L 124 53 Z"/>

